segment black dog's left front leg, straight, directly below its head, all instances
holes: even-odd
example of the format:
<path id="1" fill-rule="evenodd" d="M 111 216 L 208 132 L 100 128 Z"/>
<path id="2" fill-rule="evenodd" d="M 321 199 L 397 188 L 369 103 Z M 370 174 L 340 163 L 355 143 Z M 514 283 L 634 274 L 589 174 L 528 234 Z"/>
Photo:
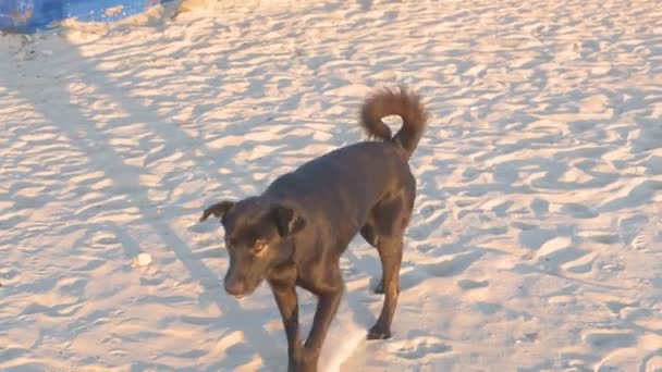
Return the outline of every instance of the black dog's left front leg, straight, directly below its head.
<path id="1" fill-rule="evenodd" d="M 287 337 L 287 371 L 296 371 L 301 361 L 302 342 L 298 336 L 298 300 L 296 287 L 291 285 L 272 285 L 273 298 L 283 319 Z"/>

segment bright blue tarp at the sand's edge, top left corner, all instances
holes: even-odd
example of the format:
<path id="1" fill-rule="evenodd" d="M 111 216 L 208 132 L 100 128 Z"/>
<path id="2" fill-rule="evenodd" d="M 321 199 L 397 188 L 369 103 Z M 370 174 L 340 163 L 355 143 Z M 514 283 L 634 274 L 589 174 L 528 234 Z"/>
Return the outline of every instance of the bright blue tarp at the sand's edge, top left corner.
<path id="1" fill-rule="evenodd" d="M 0 29 L 34 33 L 69 17 L 112 22 L 169 1 L 173 0 L 0 0 Z"/>

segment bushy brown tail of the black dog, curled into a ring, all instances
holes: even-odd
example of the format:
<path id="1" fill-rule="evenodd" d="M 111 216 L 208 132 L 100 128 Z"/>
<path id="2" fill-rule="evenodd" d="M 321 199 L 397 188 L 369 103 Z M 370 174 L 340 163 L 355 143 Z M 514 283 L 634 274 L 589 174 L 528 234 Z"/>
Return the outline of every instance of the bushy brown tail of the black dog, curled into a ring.
<path id="1" fill-rule="evenodd" d="M 382 122 L 382 117 L 399 115 L 402 117 L 402 127 L 395 136 L 391 136 L 391 128 Z M 391 141 L 402 147 L 407 157 L 412 157 L 428 120 L 428 113 L 420 102 L 420 98 L 407 90 L 383 89 L 369 97 L 360 110 L 360 125 L 368 133 L 368 137 Z"/>

